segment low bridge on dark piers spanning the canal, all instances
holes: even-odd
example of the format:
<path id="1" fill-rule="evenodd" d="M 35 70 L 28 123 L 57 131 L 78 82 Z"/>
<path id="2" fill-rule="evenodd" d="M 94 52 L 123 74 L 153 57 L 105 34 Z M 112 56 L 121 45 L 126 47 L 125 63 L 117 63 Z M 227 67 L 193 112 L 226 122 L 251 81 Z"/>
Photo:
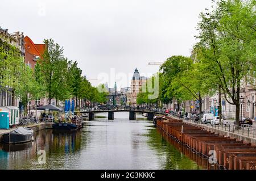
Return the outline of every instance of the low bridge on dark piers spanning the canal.
<path id="1" fill-rule="evenodd" d="M 127 107 L 117 107 L 109 110 L 91 110 L 91 111 L 80 111 L 80 113 L 89 113 L 89 120 L 94 119 L 94 113 L 100 112 L 108 112 L 108 119 L 114 119 L 114 112 L 129 112 L 129 119 L 135 120 L 136 113 L 147 113 L 147 119 L 153 120 L 155 114 L 157 115 L 165 115 L 166 112 L 164 110 L 156 110 L 156 109 L 143 109 L 143 108 L 127 108 Z"/>

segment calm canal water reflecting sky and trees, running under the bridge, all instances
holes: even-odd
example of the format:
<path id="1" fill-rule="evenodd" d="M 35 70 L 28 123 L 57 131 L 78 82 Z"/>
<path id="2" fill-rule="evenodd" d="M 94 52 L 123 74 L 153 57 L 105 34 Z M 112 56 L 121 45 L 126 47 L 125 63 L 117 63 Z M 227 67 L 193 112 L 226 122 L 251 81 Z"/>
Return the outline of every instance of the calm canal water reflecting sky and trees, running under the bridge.
<path id="1" fill-rule="evenodd" d="M 35 133 L 34 142 L 0 144 L 0 169 L 212 169 L 142 115 L 134 121 L 126 112 L 114 117 L 86 121 L 74 133 L 47 129 Z"/>

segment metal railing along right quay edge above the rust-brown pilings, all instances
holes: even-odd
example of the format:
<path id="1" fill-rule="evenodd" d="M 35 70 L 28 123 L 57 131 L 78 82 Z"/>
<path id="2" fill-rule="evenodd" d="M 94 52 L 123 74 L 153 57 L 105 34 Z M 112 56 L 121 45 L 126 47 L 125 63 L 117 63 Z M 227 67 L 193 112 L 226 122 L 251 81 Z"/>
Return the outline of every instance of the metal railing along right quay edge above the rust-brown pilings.
<path id="1" fill-rule="evenodd" d="M 170 113 L 172 116 L 179 117 L 177 116 L 177 113 Z M 179 117 L 181 119 L 184 118 L 184 116 Z M 247 136 L 251 138 L 256 137 L 256 129 L 252 127 L 252 125 L 249 124 L 242 124 L 240 125 L 235 125 L 235 124 L 225 124 L 225 123 L 217 123 L 217 124 L 211 124 L 211 123 L 204 123 L 201 120 L 196 120 L 195 117 L 189 118 L 189 119 L 183 119 L 183 121 L 188 122 L 188 123 L 193 123 L 193 124 L 199 124 L 199 125 L 204 125 L 205 127 L 209 128 L 214 128 L 222 131 L 227 131 L 230 133 L 236 133 L 242 136 Z"/>

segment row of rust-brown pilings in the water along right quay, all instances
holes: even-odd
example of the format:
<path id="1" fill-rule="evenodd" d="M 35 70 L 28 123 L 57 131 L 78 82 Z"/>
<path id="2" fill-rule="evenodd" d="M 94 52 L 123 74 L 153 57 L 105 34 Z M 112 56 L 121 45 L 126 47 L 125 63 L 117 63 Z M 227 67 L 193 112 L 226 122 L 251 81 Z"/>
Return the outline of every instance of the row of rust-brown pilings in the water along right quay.
<path id="1" fill-rule="evenodd" d="M 236 138 L 224 137 L 166 116 L 156 126 L 168 136 L 187 146 L 220 169 L 256 170 L 256 146 Z"/>

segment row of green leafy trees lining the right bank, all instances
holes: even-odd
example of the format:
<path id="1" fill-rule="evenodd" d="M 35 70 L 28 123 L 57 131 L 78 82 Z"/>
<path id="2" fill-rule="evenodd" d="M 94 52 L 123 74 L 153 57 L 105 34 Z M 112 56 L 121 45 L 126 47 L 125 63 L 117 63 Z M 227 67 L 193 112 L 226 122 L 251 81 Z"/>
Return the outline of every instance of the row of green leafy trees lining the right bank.
<path id="1" fill-rule="evenodd" d="M 178 108 L 180 102 L 197 100 L 201 115 L 202 98 L 216 93 L 221 113 L 223 94 L 236 106 L 239 124 L 242 83 L 255 85 L 255 4 L 254 0 L 213 1 L 212 10 L 201 12 L 192 56 L 172 56 L 160 67 L 158 100 L 177 100 Z M 138 103 L 148 102 L 147 96 L 140 100 L 142 94 Z"/>

